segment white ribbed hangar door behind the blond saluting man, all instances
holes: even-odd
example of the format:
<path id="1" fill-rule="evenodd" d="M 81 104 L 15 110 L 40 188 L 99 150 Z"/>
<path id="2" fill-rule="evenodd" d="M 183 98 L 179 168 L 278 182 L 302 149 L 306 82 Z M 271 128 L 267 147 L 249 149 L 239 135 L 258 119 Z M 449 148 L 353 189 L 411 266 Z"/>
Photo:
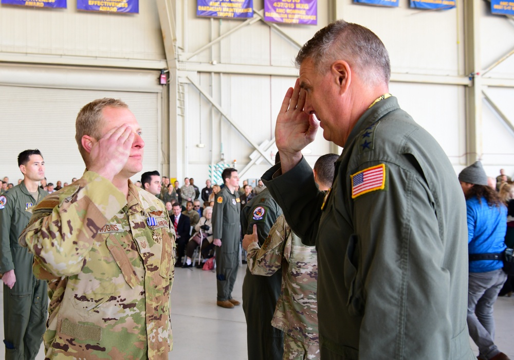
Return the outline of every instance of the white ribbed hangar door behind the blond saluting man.
<path id="1" fill-rule="evenodd" d="M 128 104 L 145 141 L 143 172 L 160 170 L 160 94 L 0 85 L 0 176 L 9 176 L 9 182 L 16 185 L 23 177 L 17 155 L 39 149 L 48 182 L 64 184 L 81 177 L 85 167 L 75 142 L 75 119 L 82 106 L 103 97 Z M 133 176 L 133 181 L 140 175 Z"/>

